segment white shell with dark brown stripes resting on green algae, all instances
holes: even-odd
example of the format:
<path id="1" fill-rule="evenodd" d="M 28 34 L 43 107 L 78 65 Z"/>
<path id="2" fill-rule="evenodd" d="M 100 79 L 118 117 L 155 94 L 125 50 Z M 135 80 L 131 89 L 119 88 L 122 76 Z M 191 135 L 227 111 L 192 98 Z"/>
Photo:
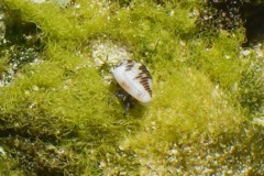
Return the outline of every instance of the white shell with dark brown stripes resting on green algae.
<path id="1" fill-rule="evenodd" d="M 142 105 L 152 100 L 152 78 L 146 67 L 131 59 L 124 59 L 113 72 L 118 84 Z"/>

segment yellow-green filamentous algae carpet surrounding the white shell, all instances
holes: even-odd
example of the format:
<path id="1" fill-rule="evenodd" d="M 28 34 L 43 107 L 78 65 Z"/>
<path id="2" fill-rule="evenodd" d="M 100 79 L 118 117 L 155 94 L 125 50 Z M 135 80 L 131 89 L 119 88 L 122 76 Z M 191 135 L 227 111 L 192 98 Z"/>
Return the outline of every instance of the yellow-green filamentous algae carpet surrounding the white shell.
<path id="1" fill-rule="evenodd" d="M 264 175 L 264 67 L 241 57 L 243 26 L 201 32 L 198 0 L 0 3 L 0 175 Z M 123 116 L 98 40 L 150 69 L 148 107 Z"/>

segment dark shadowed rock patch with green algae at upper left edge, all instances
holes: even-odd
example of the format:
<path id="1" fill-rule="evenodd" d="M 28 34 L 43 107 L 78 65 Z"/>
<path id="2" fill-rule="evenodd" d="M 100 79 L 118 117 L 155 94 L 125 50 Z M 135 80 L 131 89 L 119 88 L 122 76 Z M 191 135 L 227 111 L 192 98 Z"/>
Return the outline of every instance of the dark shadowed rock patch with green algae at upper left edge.
<path id="1" fill-rule="evenodd" d="M 9 85 L 25 65 L 36 63 L 43 51 L 41 29 L 22 20 L 19 10 L 1 6 L 0 10 L 0 87 Z"/>

